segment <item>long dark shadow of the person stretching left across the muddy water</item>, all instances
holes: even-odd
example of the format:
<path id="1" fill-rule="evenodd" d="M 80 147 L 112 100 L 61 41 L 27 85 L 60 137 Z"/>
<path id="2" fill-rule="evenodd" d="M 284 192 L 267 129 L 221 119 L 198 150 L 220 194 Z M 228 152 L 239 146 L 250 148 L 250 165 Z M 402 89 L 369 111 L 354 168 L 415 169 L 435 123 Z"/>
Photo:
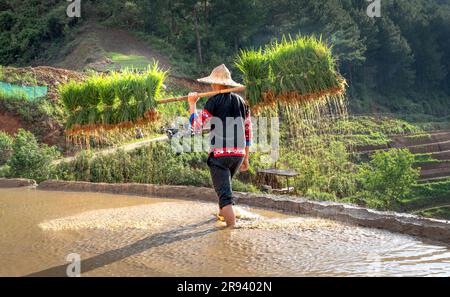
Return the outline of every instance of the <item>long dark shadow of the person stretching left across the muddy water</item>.
<path id="1" fill-rule="evenodd" d="M 95 270 L 97 268 L 112 264 L 114 262 L 142 253 L 154 247 L 170 244 L 176 241 L 198 238 L 211 234 L 213 232 L 223 230 L 223 228 L 213 227 L 203 231 L 183 234 L 183 232 L 185 231 L 194 230 L 197 227 L 209 224 L 214 221 L 215 221 L 214 219 L 211 219 L 192 225 L 182 226 L 174 230 L 153 234 L 144 239 L 136 241 L 135 243 L 130 244 L 128 246 L 124 246 L 119 249 L 111 250 L 103 254 L 88 258 L 86 260 L 82 260 L 80 265 L 81 273 L 83 274 Z M 60 266 L 55 266 L 43 271 L 25 275 L 25 277 L 66 277 L 67 276 L 66 270 L 68 265 L 69 263 Z"/>

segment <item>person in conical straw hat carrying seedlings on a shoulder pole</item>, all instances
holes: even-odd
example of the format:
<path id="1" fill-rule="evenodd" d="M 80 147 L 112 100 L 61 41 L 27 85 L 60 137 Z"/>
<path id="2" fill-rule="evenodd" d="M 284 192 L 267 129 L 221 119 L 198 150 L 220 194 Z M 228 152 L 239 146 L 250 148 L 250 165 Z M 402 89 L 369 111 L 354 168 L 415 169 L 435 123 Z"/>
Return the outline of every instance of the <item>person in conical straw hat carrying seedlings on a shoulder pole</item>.
<path id="1" fill-rule="evenodd" d="M 210 76 L 198 81 L 210 84 L 214 91 L 242 86 L 233 81 L 230 71 L 223 64 L 216 67 Z M 219 218 L 223 218 L 228 227 L 233 227 L 236 215 L 231 180 L 238 170 L 245 172 L 249 169 L 252 140 L 250 108 L 239 95 L 225 93 L 209 98 L 198 112 L 199 99 L 198 93 L 189 94 L 190 123 L 194 132 L 201 131 L 207 122 L 211 123 L 211 149 L 207 165 L 219 197 Z"/>

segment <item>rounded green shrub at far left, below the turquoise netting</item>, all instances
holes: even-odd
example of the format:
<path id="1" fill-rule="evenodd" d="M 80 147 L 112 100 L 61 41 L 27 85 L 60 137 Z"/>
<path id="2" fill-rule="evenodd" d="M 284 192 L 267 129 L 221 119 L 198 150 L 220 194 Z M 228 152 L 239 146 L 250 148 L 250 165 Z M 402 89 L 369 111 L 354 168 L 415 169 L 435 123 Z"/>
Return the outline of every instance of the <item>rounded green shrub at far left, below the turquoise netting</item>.
<path id="1" fill-rule="evenodd" d="M 52 161 L 60 154 L 56 147 L 39 144 L 31 132 L 20 129 L 17 133 L 13 153 L 8 161 L 10 175 L 34 179 L 38 182 L 53 176 Z"/>

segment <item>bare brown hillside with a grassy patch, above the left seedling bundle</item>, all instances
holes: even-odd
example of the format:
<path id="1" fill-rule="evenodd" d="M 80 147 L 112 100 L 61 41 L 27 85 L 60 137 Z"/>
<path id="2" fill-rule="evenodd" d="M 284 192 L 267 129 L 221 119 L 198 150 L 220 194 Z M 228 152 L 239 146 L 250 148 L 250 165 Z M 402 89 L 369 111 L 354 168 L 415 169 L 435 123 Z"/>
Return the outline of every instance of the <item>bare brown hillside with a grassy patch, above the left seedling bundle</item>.
<path id="1" fill-rule="evenodd" d="M 169 70 L 167 85 L 171 89 L 209 91 L 209 86 L 185 75 L 165 54 L 129 31 L 107 28 L 94 21 L 81 27 L 76 38 L 48 64 L 75 71 L 91 69 L 103 72 L 126 67 L 145 69 L 154 61 L 164 70 Z"/>

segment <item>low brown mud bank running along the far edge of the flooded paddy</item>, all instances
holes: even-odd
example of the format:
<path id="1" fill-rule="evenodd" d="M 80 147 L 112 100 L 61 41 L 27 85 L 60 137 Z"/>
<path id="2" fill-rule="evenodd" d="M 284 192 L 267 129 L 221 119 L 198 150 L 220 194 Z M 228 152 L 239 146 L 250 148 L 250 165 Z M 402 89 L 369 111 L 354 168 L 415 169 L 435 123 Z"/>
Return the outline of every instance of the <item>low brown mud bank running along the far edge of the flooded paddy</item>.
<path id="1" fill-rule="evenodd" d="M 32 181 L 28 181 L 29 184 Z M 8 180 L 0 179 L 0 187 Z M 9 181 L 11 187 L 25 186 L 25 180 Z M 5 186 L 4 186 L 5 187 Z M 146 184 L 93 184 L 86 182 L 46 181 L 38 189 L 50 191 L 99 192 L 127 194 L 161 198 L 176 198 L 200 201 L 216 201 L 209 188 L 190 186 L 156 186 Z M 307 214 L 321 218 L 357 224 L 364 227 L 385 229 L 421 238 L 450 244 L 450 222 L 422 218 L 395 212 L 380 212 L 364 207 L 335 202 L 310 201 L 300 197 L 266 194 L 236 193 L 239 204 L 276 209 L 296 214 Z"/>

